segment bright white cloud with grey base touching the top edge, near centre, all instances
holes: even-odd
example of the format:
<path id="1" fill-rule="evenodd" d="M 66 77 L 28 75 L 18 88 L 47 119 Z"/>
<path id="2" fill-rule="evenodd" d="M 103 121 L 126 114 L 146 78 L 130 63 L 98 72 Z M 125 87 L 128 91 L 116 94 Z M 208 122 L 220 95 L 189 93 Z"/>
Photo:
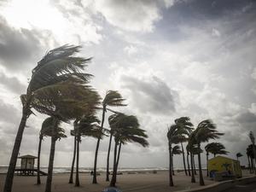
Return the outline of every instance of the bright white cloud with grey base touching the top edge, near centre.
<path id="1" fill-rule="evenodd" d="M 172 6 L 172 0 L 97 0 L 96 10 L 113 26 L 131 32 L 152 32 L 161 19 L 160 8 Z"/>

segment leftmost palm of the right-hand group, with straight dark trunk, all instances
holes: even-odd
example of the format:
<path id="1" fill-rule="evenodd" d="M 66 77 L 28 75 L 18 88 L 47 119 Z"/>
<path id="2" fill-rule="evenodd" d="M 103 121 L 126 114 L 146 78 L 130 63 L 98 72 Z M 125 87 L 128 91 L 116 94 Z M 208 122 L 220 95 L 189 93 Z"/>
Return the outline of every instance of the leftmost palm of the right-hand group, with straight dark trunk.
<path id="1" fill-rule="evenodd" d="M 172 144 L 180 143 L 180 137 L 183 130 L 177 125 L 171 125 L 167 131 L 168 148 L 169 148 L 169 185 L 174 186 L 172 179 Z"/>

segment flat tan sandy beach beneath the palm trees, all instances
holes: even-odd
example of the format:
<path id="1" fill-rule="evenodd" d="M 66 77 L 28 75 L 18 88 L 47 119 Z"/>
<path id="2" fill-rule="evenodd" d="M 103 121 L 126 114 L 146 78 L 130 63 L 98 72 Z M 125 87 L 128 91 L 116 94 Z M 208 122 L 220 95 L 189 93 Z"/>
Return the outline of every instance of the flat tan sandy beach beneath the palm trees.
<path id="1" fill-rule="evenodd" d="M 177 191 L 182 189 L 195 189 L 199 186 L 198 175 L 196 177 L 196 183 L 190 183 L 190 177 L 185 176 L 184 172 L 175 172 L 174 187 L 168 185 L 168 171 L 153 172 L 123 172 L 122 175 L 118 175 L 117 187 L 122 192 L 167 192 Z M 205 175 L 205 172 L 204 172 Z M 92 176 L 90 173 L 80 173 L 80 187 L 74 187 L 73 184 L 68 183 L 68 173 L 56 173 L 53 175 L 52 192 L 101 192 L 108 187 L 108 182 L 105 181 L 105 173 L 102 172 L 97 177 L 98 183 L 92 184 Z M 5 174 L 0 175 L 0 189 L 3 190 L 3 183 Z M 42 184 L 36 185 L 35 176 L 15 176 L 13 192 L 44 192 L 46 177 L 42 176 Z M 206 185 L 214 183 L 209 177 L 205 177 Z"/>

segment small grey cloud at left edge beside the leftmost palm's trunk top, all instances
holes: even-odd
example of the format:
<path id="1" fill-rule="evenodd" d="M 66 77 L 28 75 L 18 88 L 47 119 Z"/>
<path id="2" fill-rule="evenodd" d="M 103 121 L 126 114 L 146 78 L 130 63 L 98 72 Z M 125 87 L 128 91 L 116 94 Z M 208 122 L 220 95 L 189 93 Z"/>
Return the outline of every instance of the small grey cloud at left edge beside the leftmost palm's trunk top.
<path id="1" fill-rule="evenodd" d="M 26 90 L 25 84 L 21 84 L 19 79 L 15 77 L 8 77 L 1 72 L 0 72 L 0 84 L 3 84 L 3 86 L 6 89 L 19 95 Z"/>

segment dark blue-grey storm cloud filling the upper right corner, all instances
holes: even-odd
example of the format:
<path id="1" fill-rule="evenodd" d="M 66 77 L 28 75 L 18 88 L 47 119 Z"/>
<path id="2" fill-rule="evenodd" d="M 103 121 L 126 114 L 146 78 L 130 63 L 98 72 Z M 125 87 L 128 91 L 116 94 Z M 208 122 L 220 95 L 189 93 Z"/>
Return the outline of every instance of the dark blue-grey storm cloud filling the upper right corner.
<path id="1" fill-rule="evenodd" d="M 256 2 L 253 0 L 176 1 L 169 9 L 163 9 L 162 17 L 165 19 L 156 23 L 156 30 L 160 34 L 155 34 L 155 38 L 161 39 L 162 36 L 165 36 L 165 40 L 172 42 L 184 41 L 190 38 L 191 33 L 189 31 L 184 32 L 180 26 L 212 30 L 212 27 L 220 21 L 223 23 L 222 26 L 228 27 L 228 34 L 240 30 L 242 32 L 246 30 L 243 26 L 247 26 L 255 18 L 255 10 Z M 216 23 L 209 23 L 211 21 L 216 21 Z"/>

